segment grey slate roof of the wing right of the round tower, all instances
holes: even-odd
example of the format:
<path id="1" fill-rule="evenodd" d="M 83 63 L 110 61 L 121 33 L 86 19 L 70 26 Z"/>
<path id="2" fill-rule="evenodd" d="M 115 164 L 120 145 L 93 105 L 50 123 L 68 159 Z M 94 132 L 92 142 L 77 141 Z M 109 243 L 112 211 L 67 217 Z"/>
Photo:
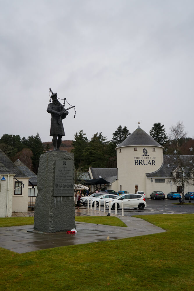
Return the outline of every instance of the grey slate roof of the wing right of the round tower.
<path id="1" fill-rule="evenodd" d="M 175 171 L 177 165 L 173 162 L 173 155 L 163 155 L 163 163 L 161 167 L 152 173 L 147 173 L 147 177 L 153 178 L 169 178 L 172 177 L 172 172 Z M 193 158 L 192 155 L 180 155 L 180 159 L 182 159 L 183 164 L 188 164 L 189 161 Z M 169 166 L 168 166 L 169 165 Z"/>

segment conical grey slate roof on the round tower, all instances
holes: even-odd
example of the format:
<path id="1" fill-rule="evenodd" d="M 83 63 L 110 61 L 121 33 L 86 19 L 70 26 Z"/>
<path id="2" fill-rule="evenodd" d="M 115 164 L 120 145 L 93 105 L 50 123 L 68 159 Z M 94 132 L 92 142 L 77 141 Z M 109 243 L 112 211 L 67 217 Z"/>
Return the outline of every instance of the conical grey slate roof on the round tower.
<path id="1" fill-rule="evenodd" d="M 138 127 L 132 134 L 130 134 L 120 145 L 116 148 L 124 147 L 124 146 L 131 146 L 131 145 L 152 145 L 158 146 L 162 148 L 155 139 L 153 139 L 149 134 L 147 134 L 143 129 Z"/>

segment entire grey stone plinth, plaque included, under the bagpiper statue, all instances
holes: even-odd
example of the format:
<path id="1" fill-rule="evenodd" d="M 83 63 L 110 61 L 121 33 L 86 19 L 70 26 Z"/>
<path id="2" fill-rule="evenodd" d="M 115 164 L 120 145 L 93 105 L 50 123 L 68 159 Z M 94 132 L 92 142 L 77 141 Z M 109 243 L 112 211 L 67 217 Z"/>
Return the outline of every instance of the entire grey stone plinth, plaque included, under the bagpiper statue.
<path id="1" fill-rule="evenodd" d="M 45 233 L 75 228 L 74 155 L 49 151 L 40 156 L 34 230 Z"/>

